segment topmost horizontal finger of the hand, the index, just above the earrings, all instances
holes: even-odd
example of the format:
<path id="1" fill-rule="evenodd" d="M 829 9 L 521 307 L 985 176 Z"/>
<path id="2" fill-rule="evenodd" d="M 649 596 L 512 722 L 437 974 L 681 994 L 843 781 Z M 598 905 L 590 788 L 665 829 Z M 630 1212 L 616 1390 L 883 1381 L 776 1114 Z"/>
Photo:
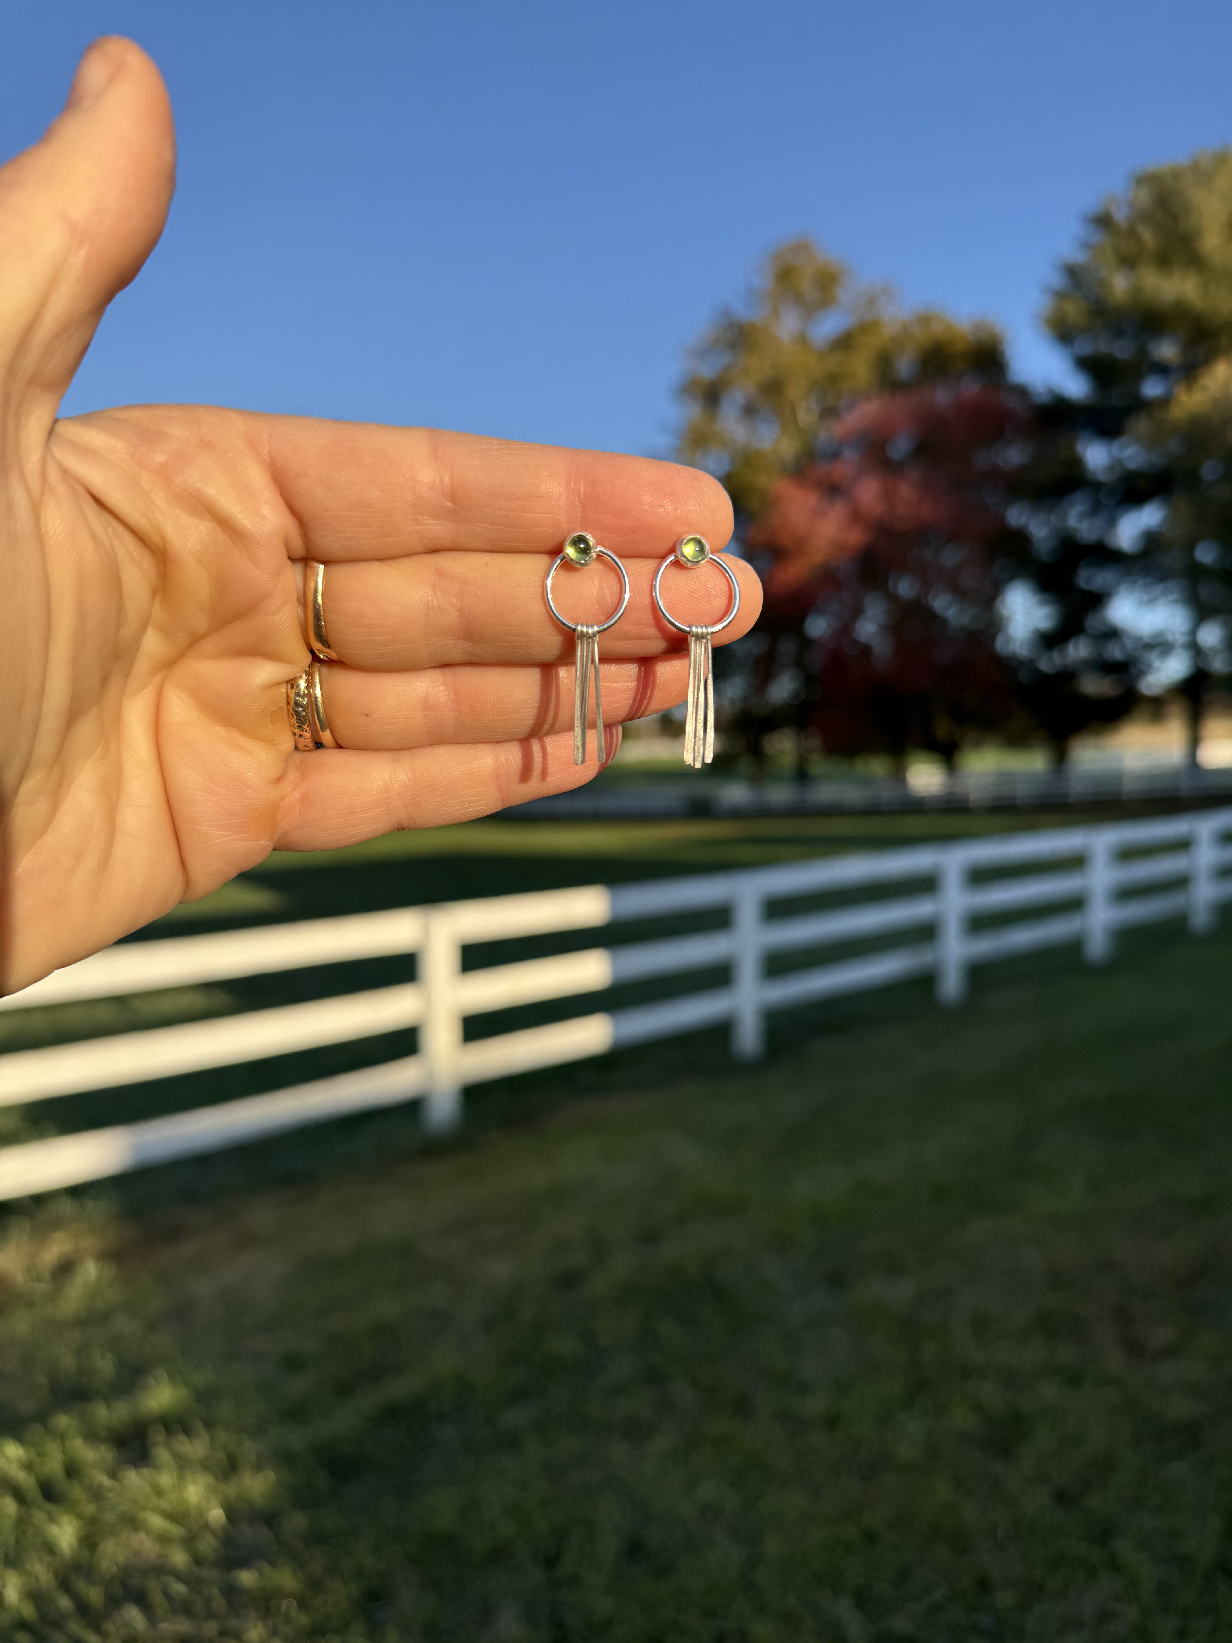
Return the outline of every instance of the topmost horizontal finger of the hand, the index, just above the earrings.
<path id="1" fill-rule="evenodd" d="M 306 559 L 552 552 L 570 531 L 652 557 L 685 532 L 731 537 L 728 493 L 675 462 L 310 417 L 253 414 L 251 434 Z"/>

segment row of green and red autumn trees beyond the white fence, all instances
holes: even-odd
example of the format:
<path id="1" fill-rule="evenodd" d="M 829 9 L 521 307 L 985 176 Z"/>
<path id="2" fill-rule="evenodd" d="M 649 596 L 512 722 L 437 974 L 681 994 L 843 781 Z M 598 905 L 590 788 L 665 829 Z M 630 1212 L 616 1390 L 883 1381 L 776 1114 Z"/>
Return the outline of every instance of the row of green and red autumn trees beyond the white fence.
<path id="1" fill-rule="evenodd" d="M 895 764 L 994 738 L 1063 762 L 1176 690 L 1196 759 L 1232 674 L 1232 148 L 1092 212 L 1043 320 L 1074 391 L 797 240 L 693 350 L 680 455 L 765 580 L 724 679 L 752 754 L 788 728 Z"/>

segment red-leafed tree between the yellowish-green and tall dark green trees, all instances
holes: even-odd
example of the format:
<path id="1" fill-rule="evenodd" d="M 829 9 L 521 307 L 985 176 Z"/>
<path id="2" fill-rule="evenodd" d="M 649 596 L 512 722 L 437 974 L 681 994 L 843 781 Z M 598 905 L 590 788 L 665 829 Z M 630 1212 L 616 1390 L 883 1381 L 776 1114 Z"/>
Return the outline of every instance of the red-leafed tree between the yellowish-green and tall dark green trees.
<path id="1" fill-rule="evenodd" d="M 876 394 L 828 453 L 780 480 L 747 532 L 765 577 L 746 739 L 785 723 L 833 754 L 926 749 L 953 764 L 981 734 L 1030 733 L 999 649 L 1023 547 L 1005 488 L 1030 407 L 1005 386 Z"/>

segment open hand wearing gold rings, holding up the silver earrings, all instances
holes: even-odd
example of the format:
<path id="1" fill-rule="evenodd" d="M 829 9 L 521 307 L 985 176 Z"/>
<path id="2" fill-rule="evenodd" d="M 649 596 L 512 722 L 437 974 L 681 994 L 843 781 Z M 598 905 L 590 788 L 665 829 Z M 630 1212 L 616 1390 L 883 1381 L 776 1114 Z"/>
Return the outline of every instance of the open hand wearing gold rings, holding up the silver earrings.
<path id="1" fill-rule="evenodd" d="M 731 531 L 713 480 L 634 457 L 182 406 L 57 422 L 103 309 L 161 233 L 172 171 L 166 90 L 123 39 L 85 54 L 64 113 L 0 171 L 0 991 L 271 849 L 586 780 L 573 641 L 542 595 L 550 555 L 586 529 L 627 567 L 629 608 L 603 641 L 616 723 L 685 693 L 682 641 L 650 605 L 657 560 L 683 531 L 715 547 Z M 306 559 L 330 567 L 337 751 L 292 751 L 286 716 L 309 660 Z M 733 568 L 724 641 L 761 605 Z M 557 583 L 575 619 L 614 605 L 609 567 Z M 687 621 L 726 608 L 713 573 L 677 573 L 672 600 Z"/>

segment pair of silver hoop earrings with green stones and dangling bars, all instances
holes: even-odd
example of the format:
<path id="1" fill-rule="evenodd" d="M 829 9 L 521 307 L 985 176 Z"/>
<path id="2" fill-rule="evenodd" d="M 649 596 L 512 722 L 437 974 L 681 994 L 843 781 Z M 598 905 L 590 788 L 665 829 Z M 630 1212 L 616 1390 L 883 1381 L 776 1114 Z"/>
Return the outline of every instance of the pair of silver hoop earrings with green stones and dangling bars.
<path id="1" fill-rule="evenodd" d="M 609 560 L 621 578 L 621 601 L 616 606 L 614 614 L 611 614 L 603 623 L 573 623 L 568 621 L 555 608 L 552 600 L 552 578 L 562 565 L 577 565 L 585 568 L 593 565 L 600 557 Z M 696 570 L 706 562 L 718 565 L 723 575 L 728 578 L 731 588 L 731 603 L 728 613 L 721 621 L 710 623 L 682 623 L 664 605 L 662 596 L 662 580 L 664 572 L 669 565 L 683 565 L 687 570 Z M 703 764 L 710 764 L 715 757 L 715 654 L 711 639 L 716 633 L 721 633 L 736 616 L 741 608 L 741 588 L 731 565 L 711 554 L 710 542 L 703 536 L 682 536 L 675 544 L 672 552 L 659 565 L 652 583 L 654 603 L 659 614 L 677 633 L 683 633 L 688 637 L 688 700 L 685 710 L 685 764 L 700 771 Z M 572 536 L 565 537 L 565 545 L 560 554 L 552 560 L 552 568 L 547 572 L 547 585 L 544 588 L 547 596 L 547 608 L 552 611 L 555 619 L 562 628 L 567 628 L 573 634 L 575 641 L 575 657 L 573 657 L 573 764 L 586 762 L 586 718 L 590 708 L 590 682 L 595 680 L 595 734 L 598 738 L 598 757 L 600 764 L 605 762 L 606 746 L 603 738 L 603 700 L 600 695 L 600 634 L 614 628 L 616 623 L 624 614 L 629 603 L 629 577 L 626 575 L 624 565 L 619 559 L 609 552 L 606 547 L 600 547 L 588 531 L 573 531 Z"/>

